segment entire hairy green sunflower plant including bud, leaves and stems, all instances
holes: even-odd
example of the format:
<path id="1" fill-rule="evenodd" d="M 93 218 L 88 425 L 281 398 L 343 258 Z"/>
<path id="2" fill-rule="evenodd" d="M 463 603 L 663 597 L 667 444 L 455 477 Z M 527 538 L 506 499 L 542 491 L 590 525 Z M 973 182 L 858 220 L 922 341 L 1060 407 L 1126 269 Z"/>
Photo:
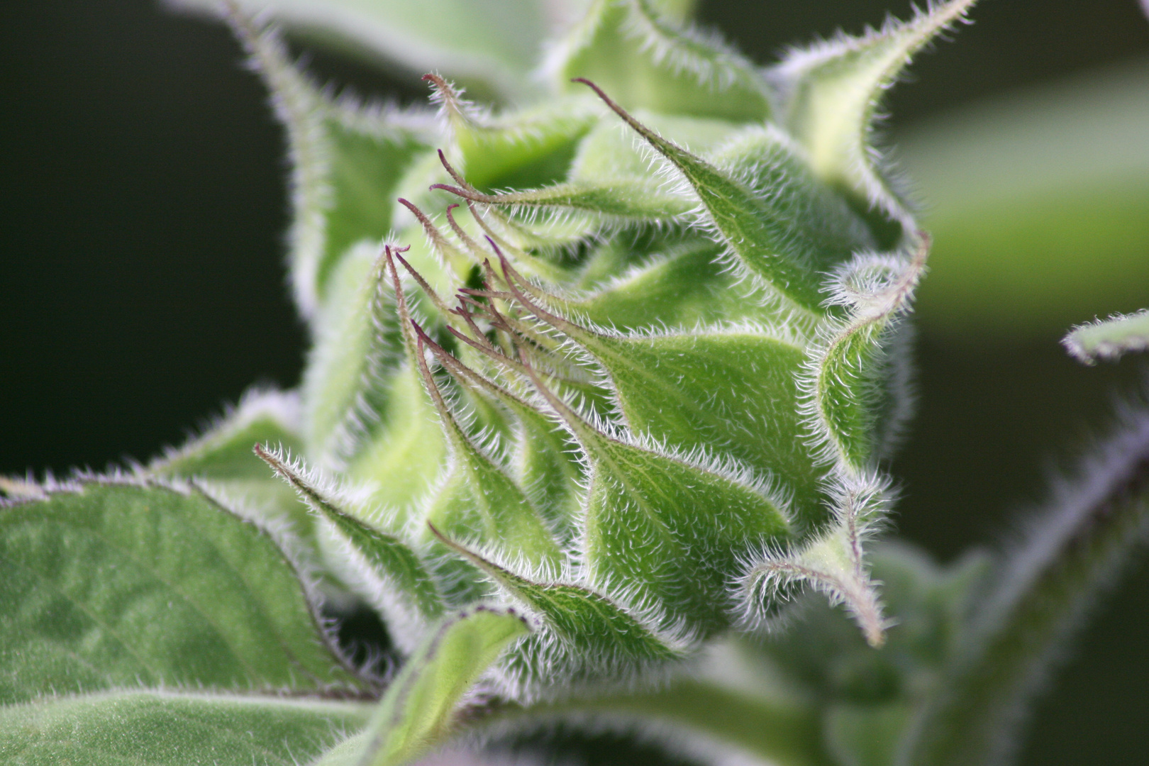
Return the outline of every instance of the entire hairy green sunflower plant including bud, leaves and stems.
<path id="1" fill-rule="evenodd" d="M 130 475 L 0 485 L 0 760 L 401 766 L 555 720 L 1007 757 L 1143 535 L 1149 427 L 1011 560 L 870 556 L 931 243 L 872 122 L 972 0 L 770 69 L 681 1 L 269 5 L 435 69 L 435 109 L 337 98 L 229 6 L 290 142 L 303 380 Z M 321 594 L 378 614 L 387 673 Z"/>

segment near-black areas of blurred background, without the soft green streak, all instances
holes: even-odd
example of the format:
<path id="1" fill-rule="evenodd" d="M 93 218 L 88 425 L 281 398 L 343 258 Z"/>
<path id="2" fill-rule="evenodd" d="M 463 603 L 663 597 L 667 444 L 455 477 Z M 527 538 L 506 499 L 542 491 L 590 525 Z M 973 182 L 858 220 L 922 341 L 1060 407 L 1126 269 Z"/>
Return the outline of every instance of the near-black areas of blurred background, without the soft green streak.
<path id="1" fill-rule="evenodd" d="M 765 62 L 887 9 L 908 3 L 704 0 L 701 18 Z M 974 17 L 894 91 L 892 133 L 1149 54 L 1135 0 L 986 0 Z M 364 94 L 423 96 L 414 78 L 311 65 Z M 282 268 L 284 138 L 228 31 L 152 0 L 8 2 L 0 72 L 0 473 L 146 459 L 252 382 L 293 386 L 306 339 Z M 894 466 L 902 534 L 947 560 L 993 542 L 1103 431 L 1115 392 L 1139 387 L 1139 359 L 1081 367 L 1058 334 L 920 333 L 919 416 Z M 1149 567 L 1124 582 L 1040 705 L 1023 763 L 1149 751 Z"/>

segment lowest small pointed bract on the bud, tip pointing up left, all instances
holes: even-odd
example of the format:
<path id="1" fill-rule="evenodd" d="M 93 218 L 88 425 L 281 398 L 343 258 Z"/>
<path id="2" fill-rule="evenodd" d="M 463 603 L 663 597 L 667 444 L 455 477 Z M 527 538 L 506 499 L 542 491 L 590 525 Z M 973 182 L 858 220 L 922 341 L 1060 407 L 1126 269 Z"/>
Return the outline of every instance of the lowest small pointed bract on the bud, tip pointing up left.
<path id="1" fill-rule="evenodd" d="M 564 693 L 572 684 L 626 683 L 686 656 L 681 639 L 660 635 L 635 614 L 572 582 L 535 582 L 464 546 L 432 532 L 455 554 L 478 566 L 515 601 L 537 616 L 541 632 L 530 636 L 506 665 L 515 697 L 546 687 Z"/>

